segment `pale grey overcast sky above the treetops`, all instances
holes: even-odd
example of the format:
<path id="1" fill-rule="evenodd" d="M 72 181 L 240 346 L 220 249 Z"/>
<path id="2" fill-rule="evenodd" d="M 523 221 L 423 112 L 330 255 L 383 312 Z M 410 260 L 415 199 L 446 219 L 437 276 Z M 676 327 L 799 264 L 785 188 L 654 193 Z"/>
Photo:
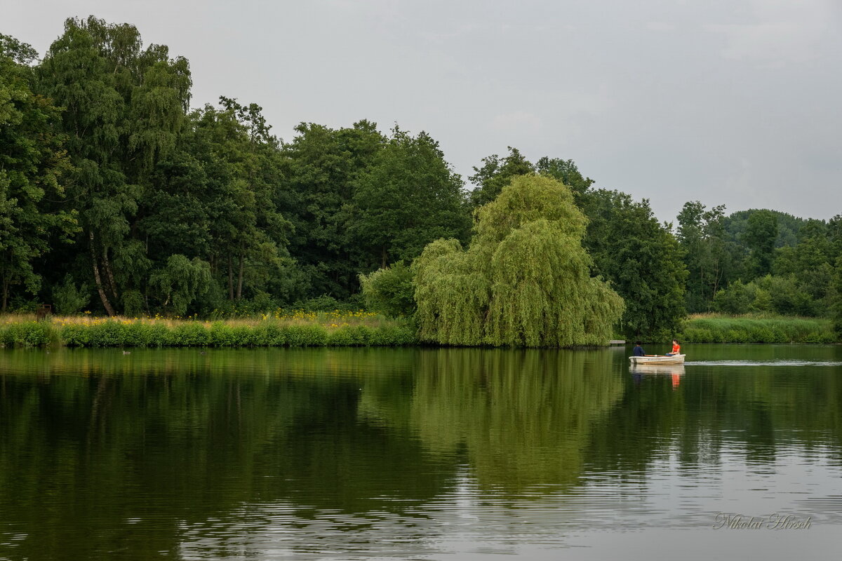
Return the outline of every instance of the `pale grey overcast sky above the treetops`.
<path id="1" fill-rule="evenodd" d="M 465 178 L 507 146 L 573 158 L 661 220 L 688 200 L 842 213 L 840 0 L 3 0 L 0 32 L 44 53 L 88 14 L 284 140 L 370 119 L 427 130 Z"/>

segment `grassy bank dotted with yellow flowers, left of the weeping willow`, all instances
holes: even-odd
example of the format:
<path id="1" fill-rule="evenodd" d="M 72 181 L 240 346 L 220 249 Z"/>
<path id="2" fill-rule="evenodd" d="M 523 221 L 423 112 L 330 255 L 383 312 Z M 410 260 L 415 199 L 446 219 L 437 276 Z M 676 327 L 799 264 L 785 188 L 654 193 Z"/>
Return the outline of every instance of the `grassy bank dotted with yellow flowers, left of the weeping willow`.
<path id="1" fill-rule="evenodd" d="M 365 347 L 418 343 L 403 320 L 368 312 L 291 312 L 253 319 L 0 317 L 4 347 Z"/>

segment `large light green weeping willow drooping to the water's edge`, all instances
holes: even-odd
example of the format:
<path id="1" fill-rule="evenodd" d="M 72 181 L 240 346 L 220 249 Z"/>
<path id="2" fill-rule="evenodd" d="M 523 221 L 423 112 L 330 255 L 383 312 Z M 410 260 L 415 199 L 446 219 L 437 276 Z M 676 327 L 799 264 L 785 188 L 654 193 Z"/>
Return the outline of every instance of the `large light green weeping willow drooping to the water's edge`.
<path id="1" fill-rule="evenodd" d="M 415 261 L 419 335 L 448 345 L 604 344 L 623 302 L 582 247 L 586 219 L 564 184 L 515 177 L 477 209 L 465 250 L 437 240 Z"/>

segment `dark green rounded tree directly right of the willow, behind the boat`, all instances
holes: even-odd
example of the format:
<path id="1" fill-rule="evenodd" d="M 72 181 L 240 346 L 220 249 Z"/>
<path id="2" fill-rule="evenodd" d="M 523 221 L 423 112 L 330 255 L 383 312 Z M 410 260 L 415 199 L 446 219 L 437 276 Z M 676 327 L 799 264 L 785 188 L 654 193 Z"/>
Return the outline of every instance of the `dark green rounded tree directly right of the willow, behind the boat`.
<path id="1" fill-rule="evenodd" d="M 629 338 L 669 338 L 685 315 L 687 271 L 678 241 L 646 199 L 637 203 L 626 193 L 598 189 L 582 200 L 594 273 L 626 303 L 621 331 Z"/>

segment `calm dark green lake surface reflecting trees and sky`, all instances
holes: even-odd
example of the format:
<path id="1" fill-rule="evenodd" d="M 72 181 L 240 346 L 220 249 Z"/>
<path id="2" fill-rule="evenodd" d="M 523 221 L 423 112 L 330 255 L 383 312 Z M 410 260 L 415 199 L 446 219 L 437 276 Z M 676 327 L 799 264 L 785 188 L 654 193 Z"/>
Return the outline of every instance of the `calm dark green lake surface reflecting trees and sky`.
<path id="1" fill-rule="evenodd" d="M 842 347 L 686 347 L 0 351 L 0 559 L 835 558 Z"/>

